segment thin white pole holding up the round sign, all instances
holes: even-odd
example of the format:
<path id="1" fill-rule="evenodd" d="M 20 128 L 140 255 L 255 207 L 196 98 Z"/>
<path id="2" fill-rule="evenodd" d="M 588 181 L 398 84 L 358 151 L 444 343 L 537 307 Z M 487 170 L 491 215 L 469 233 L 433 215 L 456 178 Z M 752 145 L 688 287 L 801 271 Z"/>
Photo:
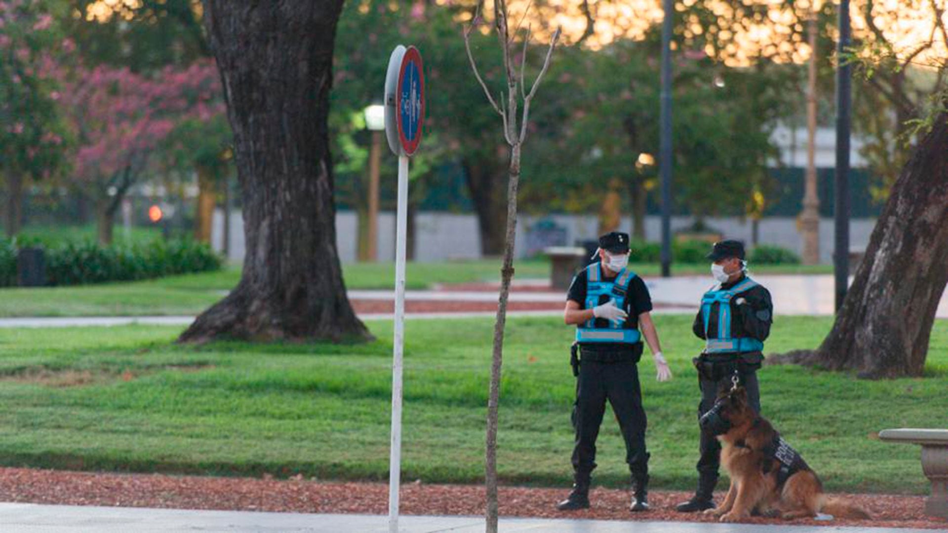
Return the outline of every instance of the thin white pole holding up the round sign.
<path id="1" fill-rule="evenodd" d="M 398 157 L 398 221 L 395 231 L 395 340 L 392 362 L 392 455 L 389 470 L 389 533 L 398 533 L 402 450 L 402 354 L 405 345 L 405 249 L 408 237 L 409 157 Z"/>

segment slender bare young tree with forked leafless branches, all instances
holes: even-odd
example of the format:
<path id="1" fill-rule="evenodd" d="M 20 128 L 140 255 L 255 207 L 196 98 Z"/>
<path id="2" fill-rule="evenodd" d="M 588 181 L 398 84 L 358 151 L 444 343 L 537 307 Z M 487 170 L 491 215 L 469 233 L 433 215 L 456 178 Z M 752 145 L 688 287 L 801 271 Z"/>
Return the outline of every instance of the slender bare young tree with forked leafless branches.
<path id="1" fill-rule="evenodd" d="M 483 2 L 482 2 L 483 4 Z M 493 358 L 490 367 L 490 393 L 487 400 L 487 446 L 486 446 L 486 472 L 485 484 L 487 491 L 487 532 L 497 533 L 498 522 L 498 502 L 497 502 L 497 421 L 498 421 L 498 402 L 500 398 L 501 386 L 501 363 L 503 360 L 503 330 L 507 319 L 507 298 L 510 295 L 510 281 L 514 277 L 514 245 L 517 239 L 517 191 L 520 185 L 520 150 L 523 141 L 527 138 L 527 123 L 530 118 L 530 103 L 537 95 L 537 89 L 543 75 L 546 74 L 550 66 L 550 60 L 553 58 L 553 51 L 556 49 L 556 43 L 559 41 L 560 29 L 550 38 L 550 45 L 546 51 L 546 57 L 543 60 L 543 66 L 540 68 L 537 79 L 530 87 L 530 92 L 526 91 L 524 78 L 524 68 L 526 66 L 527 46 L 530 44 L 530 28 L 527 28 L 523 38 L 523 48 L 520 54 L 520 70 L 514 64 L 517 55 L 516 46 L 513 38 L 520 32 L 520 25 L 511 28 L 507 20 L 507 3 L 505 0 L 494 0 L 494 21 L 493 26 L 497 31 L 497 37 L 503 51 L 503 71 L 506 82 L 506 94 L 501 90 L 500 98 L 494 99 L 491 90 L 484 83 L 481 73 L 478 71 L 477 63 L 474 61 L 474 55 L 471 53 L 470 33 L 475 28 L 480 27 L 483 22 L 481 19 L 482 5 L 478 6 L 471 24 L 465 28 L 465 48 L 467 58 L 470 60 L 471 69 L 478 83 L 483 87 L 484 95 L 491 107 L 501 116 L 503 124 L 503 138 L 510 147 L 510 161 L 508 167 L 507 181 L 507 228 L 506 238 L 503 247 L 503 267 L 501 267 L 501 294 L 500 302 L 497 307 L 497 321 L 494 324 L 494 347 Z M 522 21 L 520 21 L 522 22 Z M 522 101 L 522 110 L 518 117 L 518 109 Z M 500 102 L 500 103 L 498 103 Z M 518 121 L 519 120 L 519 121 Z"/>

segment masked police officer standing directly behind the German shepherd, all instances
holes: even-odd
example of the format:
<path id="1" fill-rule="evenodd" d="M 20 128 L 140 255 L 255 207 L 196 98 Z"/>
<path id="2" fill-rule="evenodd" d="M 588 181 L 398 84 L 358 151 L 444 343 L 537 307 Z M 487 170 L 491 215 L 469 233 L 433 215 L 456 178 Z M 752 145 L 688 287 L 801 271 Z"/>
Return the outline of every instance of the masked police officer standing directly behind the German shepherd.
<path id="1" fill-rule="evenodd" d="M 702 306 L 692 326 L 705 341 L 702 355 L 694 358 L 701 385 L 702 401 L 698 417 L 707 413 L 719 391 L 732 386 L 732 379 L 747 389 L 751 407 L 760 413 L 757 369 L 763 361 L 764 340 L 770 335 L 774 304 L 770 292 L 747 276 L 744 245 L 739 241 L 715 243 L 707 258 L 717 282 L 702 297 Z M 718 483 L 720 443 L 714 435 L 701 432 L 698 460 L 698 490 L 694 497 L 676 508 L 681 512 L 713 508 L 712 494 Z"/>

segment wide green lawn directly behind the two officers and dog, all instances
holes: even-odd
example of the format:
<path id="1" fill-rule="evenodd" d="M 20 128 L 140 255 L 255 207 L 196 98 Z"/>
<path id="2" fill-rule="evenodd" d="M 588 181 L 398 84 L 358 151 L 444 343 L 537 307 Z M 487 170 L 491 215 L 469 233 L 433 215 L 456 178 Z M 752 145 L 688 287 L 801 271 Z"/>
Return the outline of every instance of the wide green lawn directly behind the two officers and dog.
<path id="1" fill-rule="evenodd" d="M 691 488 L 697 460 L 700 349 L 688 316 L 656 317 L 675 373 L 640 364 L 655 487 Z M 384 479 L 388 471 L 391 322 L 364 345 L 172 343 L 173 327 L 0 330 L 0 464 L 208 474 L 303 473 Z M 768 352 L 815 346 L 829 319 L 781 318 Z M 405 479 L 482 478 L 492 321 L 410 321 Z M 500 472 L 506 483 L 569 481 L 572 331 L 554 319 L 508 322 Z M 885 428 L 945 427 L 948 322 L 936 322 L 927 376 L 863 381 L 797 367 L 760 372 L 764 414 L 830 490 L 922 493 L 919 450 Z M 626 482 L 607 414 L 595 482 Z"/>

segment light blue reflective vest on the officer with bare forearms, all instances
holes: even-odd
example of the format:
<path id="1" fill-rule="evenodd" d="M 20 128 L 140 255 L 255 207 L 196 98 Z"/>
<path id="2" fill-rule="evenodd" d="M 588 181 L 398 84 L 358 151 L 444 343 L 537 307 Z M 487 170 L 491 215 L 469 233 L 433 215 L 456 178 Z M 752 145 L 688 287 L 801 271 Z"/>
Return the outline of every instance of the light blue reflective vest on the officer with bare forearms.
<path id="1" fill-rule="evenodd" d="M 598 262 L 586 267 L 586 308 L 592 309 L 599 304 L 601 296 L 608 296 L 615 301 L 615 306 L 624 309 L 629 282 L 635 277 L 635 272 L 622 269 L 611 282 L 602 279 L 602 269 Z M 606 327 L 596 327 L 596 319 L 587 321 L 576 328 L 578 342 L 623 342 L 634 344 L 642 339 L 639 330 L 625 327 L 622 323 L 609 322 Z"/>

